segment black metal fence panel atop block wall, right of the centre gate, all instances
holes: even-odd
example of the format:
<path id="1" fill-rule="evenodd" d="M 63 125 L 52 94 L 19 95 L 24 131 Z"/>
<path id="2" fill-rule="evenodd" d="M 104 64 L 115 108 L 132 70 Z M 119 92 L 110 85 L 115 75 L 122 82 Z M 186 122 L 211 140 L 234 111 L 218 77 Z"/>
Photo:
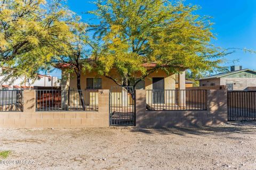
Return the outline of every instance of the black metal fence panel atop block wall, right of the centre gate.
<path id="1" fill-rule="evenodd" d="M 146 90 L 148 111 L 204 111 L 207 90 Z"/>

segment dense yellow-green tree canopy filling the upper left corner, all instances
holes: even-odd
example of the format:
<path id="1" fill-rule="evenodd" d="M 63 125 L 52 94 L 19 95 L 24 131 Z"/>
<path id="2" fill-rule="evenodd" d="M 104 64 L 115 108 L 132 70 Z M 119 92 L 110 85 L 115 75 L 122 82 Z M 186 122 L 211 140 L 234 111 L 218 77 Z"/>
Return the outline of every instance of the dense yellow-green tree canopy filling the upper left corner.
<path id="1" fill-rule="evenodd" d="M 61 0 L 0 1 L 0 66 L 8 68 L 10 77 L 35 77 L 40 69 L 48 69 L 56 49 L 73 38 L 69 23 L 74 13 Z"/>

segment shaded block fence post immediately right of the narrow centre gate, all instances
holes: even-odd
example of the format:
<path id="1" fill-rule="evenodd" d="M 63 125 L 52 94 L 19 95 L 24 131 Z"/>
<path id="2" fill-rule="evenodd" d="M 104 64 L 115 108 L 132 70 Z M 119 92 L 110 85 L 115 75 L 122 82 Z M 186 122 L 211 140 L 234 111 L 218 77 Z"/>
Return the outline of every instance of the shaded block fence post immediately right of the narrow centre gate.
<path id="1" fill-rule="evenodd" d="M 146 90 L 135 90 L 136 126 L 143 126 L 146 114 Z"/>

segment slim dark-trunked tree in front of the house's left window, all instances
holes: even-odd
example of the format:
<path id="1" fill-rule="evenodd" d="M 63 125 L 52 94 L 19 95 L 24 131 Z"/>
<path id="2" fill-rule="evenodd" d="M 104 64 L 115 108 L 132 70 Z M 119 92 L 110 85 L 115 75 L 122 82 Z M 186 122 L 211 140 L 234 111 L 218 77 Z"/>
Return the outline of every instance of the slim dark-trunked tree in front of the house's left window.
<path id="1" fill-rule="evenodd" d="M 87 25 L 81 22 L 78 16 L 76 17 L 76 22 L 71 22 L 69 24 L 69 28 L 73 36 L 64 42 L 67 45 L 67 48 L 57 48 L 56 50 L 58 53 L 51 57 L 50 63 L 51 66 L 54 67 L 62 67 L 66 65 L 66 73 L 75 73 L 81 105 L 83 109 L 85 109 L 85 101 L 81 89 L 81 75 L 83 72 L 93 69 L 92 58 L 91 60 L 88 60 L 92 57 L 93 43 L 91 43 L 87 36 Z"/>

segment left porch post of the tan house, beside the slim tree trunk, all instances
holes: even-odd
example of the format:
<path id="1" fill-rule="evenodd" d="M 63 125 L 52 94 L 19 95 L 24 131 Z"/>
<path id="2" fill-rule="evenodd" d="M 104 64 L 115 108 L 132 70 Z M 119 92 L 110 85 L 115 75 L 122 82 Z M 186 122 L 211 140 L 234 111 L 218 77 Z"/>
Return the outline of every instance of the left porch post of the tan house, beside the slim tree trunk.
<path id="1" fill-rule="evenodd" d="M 70 75 L 67 71 L 61 71 L 61 108 L 62 110 L 68 109 L 68 87 Z"/>

